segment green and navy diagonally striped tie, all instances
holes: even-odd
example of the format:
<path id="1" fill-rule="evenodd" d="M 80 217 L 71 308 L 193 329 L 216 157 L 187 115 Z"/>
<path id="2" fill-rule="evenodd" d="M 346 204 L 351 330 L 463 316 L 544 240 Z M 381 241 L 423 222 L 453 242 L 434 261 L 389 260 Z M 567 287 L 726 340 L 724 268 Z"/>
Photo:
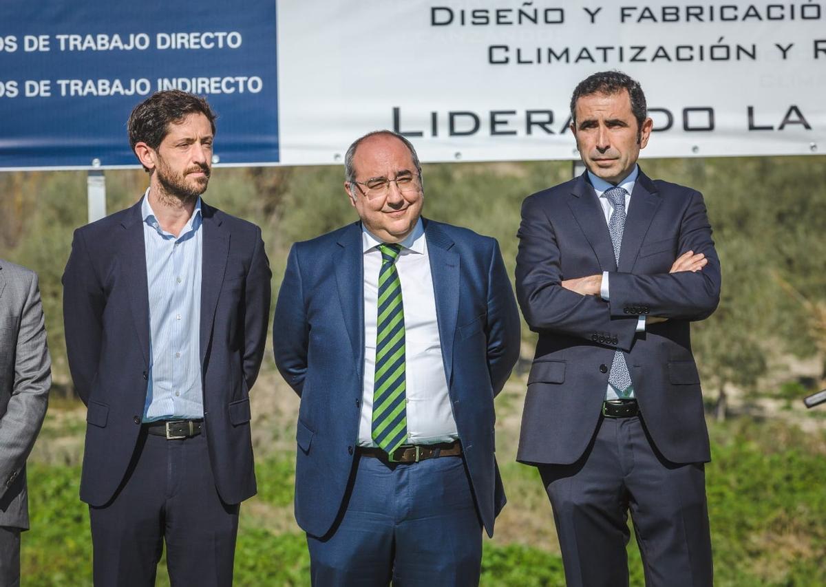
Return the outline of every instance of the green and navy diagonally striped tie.
<path id="1" fill-rule="evenodd" d="M 396 271 L 399 244 L 380 244 L 376 323 L 376 377 L 373 380 L 373 441 L 390 455 L 407 439 L 405 395 L 405 312 Z"/>

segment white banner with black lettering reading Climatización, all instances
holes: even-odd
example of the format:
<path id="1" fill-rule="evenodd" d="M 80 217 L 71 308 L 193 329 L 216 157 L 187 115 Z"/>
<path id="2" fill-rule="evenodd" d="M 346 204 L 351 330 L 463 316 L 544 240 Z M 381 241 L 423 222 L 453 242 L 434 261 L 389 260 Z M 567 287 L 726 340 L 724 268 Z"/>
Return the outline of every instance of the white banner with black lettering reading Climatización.
<path id="1" fill-rule="evenodd" d="M 826 3 L 279 0 L 281 163 L 385 128 L 424 161 L 576 159 L 606 69 L 643 85 L 648 157 L 826 152 Z"/>

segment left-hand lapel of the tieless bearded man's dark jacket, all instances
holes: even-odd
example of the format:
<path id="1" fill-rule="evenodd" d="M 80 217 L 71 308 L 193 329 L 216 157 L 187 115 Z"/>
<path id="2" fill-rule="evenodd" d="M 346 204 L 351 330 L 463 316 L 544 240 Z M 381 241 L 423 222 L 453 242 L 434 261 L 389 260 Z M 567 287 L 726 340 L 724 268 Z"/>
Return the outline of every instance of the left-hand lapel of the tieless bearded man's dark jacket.
<path id="1" fill-rule="evenodd" d="M 145 196 L 144 196 L 145 197 Z M 144 246 L 144 223 L 140 215 L 140 198 L 132 206 L 121 223 L 126 233 L 126 242 L 121 249 L 121 272 L 129 285 L 132 319 L 138 335 L 140 352 L 144 354 L 147 366 L 150 364 L 150 291 L 146 284 L 146 250 Z"/>

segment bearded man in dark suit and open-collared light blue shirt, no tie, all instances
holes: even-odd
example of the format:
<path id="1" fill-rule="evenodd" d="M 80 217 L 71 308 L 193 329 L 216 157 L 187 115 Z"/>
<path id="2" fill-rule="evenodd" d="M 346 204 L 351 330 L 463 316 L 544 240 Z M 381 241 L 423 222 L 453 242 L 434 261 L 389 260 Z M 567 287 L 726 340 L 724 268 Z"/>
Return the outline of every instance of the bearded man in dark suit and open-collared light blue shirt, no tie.
<path id="1" fill-rule="evenodd" d="M 231 585 L 255 493 L 249 390 L 267 336 L 261 231 L 209 206 L 215 115 L 157 92 L 128 123 L 150 187 L 75 231 L 64 272 L 69 368 L 88 406 L 80 497 L 95 585 Z"/>

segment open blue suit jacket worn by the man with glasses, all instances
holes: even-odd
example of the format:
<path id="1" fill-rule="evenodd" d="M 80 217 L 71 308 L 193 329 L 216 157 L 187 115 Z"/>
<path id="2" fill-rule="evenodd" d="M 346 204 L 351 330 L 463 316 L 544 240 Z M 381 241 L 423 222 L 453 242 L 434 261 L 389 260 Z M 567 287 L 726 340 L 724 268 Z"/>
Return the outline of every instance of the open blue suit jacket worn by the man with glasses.
<path id="1" fill-rule="evenodd" d="M 519 311 L 495 239 L 425 220 L 453 416 L 488 533 L 505 504 L 493 397 L 520 350 Z M 292 247 L 273 324 L 278 370 L 298 395 L 296 519 L 323 536 L 344 499 L 364 368 L 360 223 Z"/>

